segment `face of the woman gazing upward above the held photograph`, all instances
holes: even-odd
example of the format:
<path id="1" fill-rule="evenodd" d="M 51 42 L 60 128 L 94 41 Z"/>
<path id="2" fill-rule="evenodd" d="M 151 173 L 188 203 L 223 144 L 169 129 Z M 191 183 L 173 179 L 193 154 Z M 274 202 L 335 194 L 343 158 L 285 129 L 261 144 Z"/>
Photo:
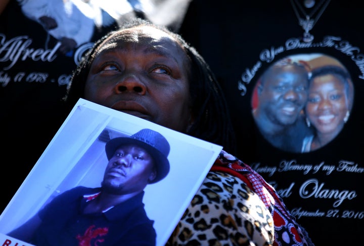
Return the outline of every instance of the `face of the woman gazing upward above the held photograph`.
<path id="1" fill-rule="evenodd" d="M 86 100 L 186 132 L 190 118 L 186 52 L 153 27 L 125 29 L 106 39 L 90 67 Z"/>

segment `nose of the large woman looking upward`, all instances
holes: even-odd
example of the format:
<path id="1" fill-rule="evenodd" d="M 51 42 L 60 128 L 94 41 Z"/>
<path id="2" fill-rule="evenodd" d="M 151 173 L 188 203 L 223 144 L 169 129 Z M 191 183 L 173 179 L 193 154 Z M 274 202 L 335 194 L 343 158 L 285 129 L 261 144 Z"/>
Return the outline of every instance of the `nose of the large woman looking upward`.
<path id="1" fill-rule="evenodd" d="M 147 92 L 147 87 L 138 76 L 129 74 L 123 76 L 120 81 L 118 81 L 114 90 L 116 94 L 132 92 L 144 95 Z"/>

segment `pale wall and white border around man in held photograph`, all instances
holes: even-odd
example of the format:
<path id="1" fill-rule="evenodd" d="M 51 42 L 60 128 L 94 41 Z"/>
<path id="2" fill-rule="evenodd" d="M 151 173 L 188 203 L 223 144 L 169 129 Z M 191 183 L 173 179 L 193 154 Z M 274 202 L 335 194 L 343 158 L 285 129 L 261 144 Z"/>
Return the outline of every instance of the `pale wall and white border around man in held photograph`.
<path id="1" fill-rule="evenodd" d="M 73 107 L 0 216 L 2 244 L 32 245 L 7 234 L 65 191 L 101 187 L 109 157 L 106 143 L 143 129 L 161 134 L 170 146 L 169 172 L 148 184 L 143 196 L 156 245 L 164 245 L 222 147 L 84 99 Z"/>

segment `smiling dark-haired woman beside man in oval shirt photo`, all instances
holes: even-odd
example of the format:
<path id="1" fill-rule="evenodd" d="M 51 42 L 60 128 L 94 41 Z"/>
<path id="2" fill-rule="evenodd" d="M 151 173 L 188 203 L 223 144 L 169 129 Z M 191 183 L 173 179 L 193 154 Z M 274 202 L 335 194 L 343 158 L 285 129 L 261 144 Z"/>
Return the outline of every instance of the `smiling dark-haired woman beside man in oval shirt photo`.
<path id="1" fill-rule="evenodd" d="M 325 146 L 341 132 L 350 115 L 351 91 L 350 75 L 343 68 L 327 65 L 312 70 L 305 112 L 307 125 L 316 131 L 303 140 L 302 152 Z"/>

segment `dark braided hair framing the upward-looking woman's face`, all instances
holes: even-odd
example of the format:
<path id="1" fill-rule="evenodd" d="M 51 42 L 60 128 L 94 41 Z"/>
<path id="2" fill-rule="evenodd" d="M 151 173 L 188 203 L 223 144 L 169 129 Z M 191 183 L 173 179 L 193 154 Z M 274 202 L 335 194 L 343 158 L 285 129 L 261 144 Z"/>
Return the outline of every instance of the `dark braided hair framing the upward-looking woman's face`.
<path id="1" fill-rule="evenodd" d="M 84 87 L 90 66 L 95 59 L 96 51 L 104 40 L 120 30 L 136 26 L 151 26 L 171 35 L 183 47 L 190 60 L 191 71 L 188 76 L 194 123 L 187 134 L 221 145 L 224 150 L 235 154 L 235 134 L 228 106 L 221 87 L 209 65 L 196 49 L 190 46 L 179 34 L 144 19 L 135 18 L 123 23 L 118 30 L 106 34 L 88 50 L 72 73 L 71 82 L 67 87 L 67 95 L 64 98 L 67 105 L 71 107 L 79 98 L 84 97 Z"/>

